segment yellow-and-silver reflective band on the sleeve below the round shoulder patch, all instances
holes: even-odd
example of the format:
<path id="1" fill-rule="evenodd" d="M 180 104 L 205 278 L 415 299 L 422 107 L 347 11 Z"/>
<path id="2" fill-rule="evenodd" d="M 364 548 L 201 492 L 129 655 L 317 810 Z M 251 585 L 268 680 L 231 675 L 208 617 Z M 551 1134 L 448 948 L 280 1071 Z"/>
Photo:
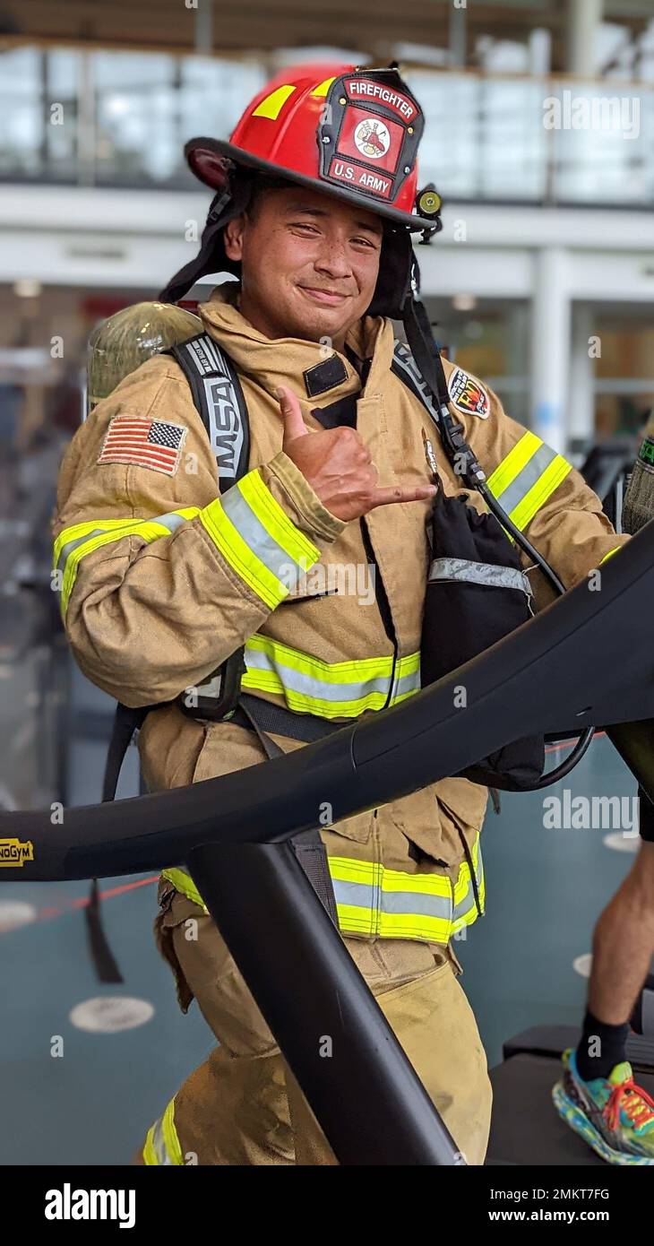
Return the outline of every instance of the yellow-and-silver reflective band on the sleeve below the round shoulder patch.
<path id="1" fill-rule="evenodd" d="M 522 532 L 572 471 L 536 432 L 526 432 L 488 476 L 488 488 Z"/>

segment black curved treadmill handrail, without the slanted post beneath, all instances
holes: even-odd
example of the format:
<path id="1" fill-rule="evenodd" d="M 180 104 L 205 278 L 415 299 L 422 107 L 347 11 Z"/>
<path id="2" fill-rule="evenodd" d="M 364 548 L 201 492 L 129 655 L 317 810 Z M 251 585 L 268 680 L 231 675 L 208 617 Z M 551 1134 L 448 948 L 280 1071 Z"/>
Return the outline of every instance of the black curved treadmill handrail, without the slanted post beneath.
<path id="1" fill-rule="evenodd" d="M 1 881 L 137 873 L 204 842 L 278 842 L 400 799 L 533 731 L 654 714 L 654 521 L 536 618 L 395 709 L 253 766 L 116 804 L 2 812 L 0 835 L 34 845 Z M 460 688 L 466 708 L 458 708 Z M 642 766 L 645 771 L 648 768 Z M 650 774 L 637 776 L 650 791 Z M 650 791 L 654 799 L 654 790 Z"/>

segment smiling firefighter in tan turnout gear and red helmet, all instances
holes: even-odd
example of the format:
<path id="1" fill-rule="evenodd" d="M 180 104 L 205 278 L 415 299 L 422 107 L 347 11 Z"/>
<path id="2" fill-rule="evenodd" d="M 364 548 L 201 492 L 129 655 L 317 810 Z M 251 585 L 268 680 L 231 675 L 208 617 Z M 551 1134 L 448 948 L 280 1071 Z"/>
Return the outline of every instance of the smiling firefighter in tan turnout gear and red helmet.
<path id="1" fill-rule="evenodd" d="M 162 297 L 181 298 L 202 273 L 238 278 L 198 309 L 209 338 L 198 366 L 220 351 L 233 361 L 249 445 L 233 404 L 213 394 L 211 427 L 229 430 L 227 441 L 217 434 L 217 457 L 187 376 L 157 355 L 77 432 L 55 520 L 81 669 L 126 705 L 153 706 L 138 739 L 152 791 L 267 760 L 248 715 L 211 709 L 235 652 L 238 704 L 250 716 L 265 708 L 283 751 L 420 688 L 434 495 L 425 440 L 445 491 L 462 491 L 420 380 L 392 366 L 391 315 L 417 341 L 411 233 L 437 223 L 437 196 L 417 193 L 422 127 L 395 69 L 294 67 L 259 92 L 230 142 L 187 145 L 216 198 L 199 255 Z M 492 390 L 443 368 L 450 411 L 490 487 L 574 584 L 622 541 L 598 498 Z M 238 476 L 225 459 L 245 445 Z M 219 492 L 225 471 L 234 483 Z M 551 594 L 529 574 L 542 606 Z M 321 830 L 340 933 L 470 1164 L 483 1163 L 491 1089 L 452 941 L 483 911 L 486 800 L 452 778 Z M 197 999 L 219 1045 L 162 1110 L 141 1161 L 334 1164 L 183 868 L 163 871 L 158 901 L 179 1004 Z"/>

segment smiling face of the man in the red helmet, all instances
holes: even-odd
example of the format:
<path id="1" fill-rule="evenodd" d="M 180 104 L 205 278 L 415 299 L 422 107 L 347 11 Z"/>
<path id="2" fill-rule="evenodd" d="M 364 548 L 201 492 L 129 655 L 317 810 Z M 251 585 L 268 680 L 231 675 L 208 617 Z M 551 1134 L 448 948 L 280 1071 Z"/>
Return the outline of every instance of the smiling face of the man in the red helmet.
<path id="1" fill-rule="evenodd" d="M 268 191 L 254 218 L 224 231 L 227 254 L 242 262 L 243 315 L 268 338 L 329 338 L 341 349 L 372 299 L 381 237 L 365 208 L 304 187 Z"/>

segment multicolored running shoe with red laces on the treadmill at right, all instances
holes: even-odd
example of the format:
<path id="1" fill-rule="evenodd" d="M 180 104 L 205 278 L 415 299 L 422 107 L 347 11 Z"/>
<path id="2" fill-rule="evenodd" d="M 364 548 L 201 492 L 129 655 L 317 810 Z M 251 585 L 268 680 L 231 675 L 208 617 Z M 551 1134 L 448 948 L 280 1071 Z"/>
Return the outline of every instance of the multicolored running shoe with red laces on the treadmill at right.
<path id="1" fill-rule="evenodd" d="M 635 1085 L 627 1060 L 608 1078 L 584 1082 L 576 1053 L 563 1052 L 563 1077 L 552 1099 L 559 1116 L 607 1164 L 654 1165 L 654 1099 Z"/>

